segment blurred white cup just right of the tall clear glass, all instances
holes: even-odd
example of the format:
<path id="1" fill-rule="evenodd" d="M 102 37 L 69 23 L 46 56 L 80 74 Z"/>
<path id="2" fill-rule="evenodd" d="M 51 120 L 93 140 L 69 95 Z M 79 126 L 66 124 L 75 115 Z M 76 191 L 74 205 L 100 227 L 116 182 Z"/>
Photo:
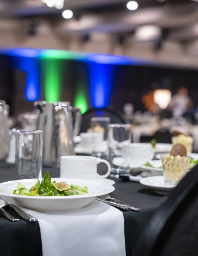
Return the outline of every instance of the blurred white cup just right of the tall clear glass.
<path id="1" fill-rule="evenodd" d="M 131 143 L 129 148 L 130 167 L 138 167 L 153 159 L 154 151 L 151 143 Z"/>

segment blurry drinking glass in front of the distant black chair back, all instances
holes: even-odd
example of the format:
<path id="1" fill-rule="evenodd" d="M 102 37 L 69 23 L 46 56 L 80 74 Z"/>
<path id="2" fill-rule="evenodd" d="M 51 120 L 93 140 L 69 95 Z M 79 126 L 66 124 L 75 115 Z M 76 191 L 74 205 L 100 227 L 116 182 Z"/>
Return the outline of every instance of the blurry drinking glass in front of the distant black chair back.
<path id="1" fill-rule="evenodd" d="M 110 121 L 109 117 L 91 118 L 93 156 L 108 157 L 108 125 Z"/>

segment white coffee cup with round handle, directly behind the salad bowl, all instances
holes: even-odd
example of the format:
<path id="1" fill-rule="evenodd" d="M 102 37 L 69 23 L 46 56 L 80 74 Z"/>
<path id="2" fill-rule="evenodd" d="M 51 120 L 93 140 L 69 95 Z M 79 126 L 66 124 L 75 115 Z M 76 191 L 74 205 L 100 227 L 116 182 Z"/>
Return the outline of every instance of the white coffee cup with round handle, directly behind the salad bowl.
<path id="1" fill-rule="evenodd" d="M 108 171 L 105 175 L 97 173 L 97 164 L 105 163 Z M 97 159 L 94 156 L 61 156 L 61 178 L 76 178 L 92 180 L 95 178 L 106 178 L 111 172 L 108 161 Z"/>

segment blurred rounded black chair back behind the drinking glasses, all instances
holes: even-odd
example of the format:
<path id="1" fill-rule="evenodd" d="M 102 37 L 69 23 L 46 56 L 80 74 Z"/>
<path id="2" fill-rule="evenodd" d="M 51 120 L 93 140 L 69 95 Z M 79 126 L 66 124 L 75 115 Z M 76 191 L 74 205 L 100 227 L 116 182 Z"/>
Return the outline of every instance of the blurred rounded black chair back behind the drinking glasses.
<path id="1" fill-rule="evenodd" d="M 112 109 L 89 109 L 87 112 L 82 114 L 82 123 L 80 133 L 86 133 L 87 129 L 90 128 L 90 120 L 92 117 L 103 117 L 107 116 L 111 118 L 111 123 L 126 123 L 123 117 Z"/>

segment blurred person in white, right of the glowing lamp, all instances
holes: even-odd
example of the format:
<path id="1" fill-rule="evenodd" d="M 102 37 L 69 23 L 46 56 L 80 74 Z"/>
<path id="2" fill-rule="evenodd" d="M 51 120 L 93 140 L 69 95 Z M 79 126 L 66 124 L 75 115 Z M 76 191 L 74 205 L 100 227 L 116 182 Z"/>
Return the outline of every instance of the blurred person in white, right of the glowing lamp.
<path id="1" fill-rule="evenodd" d="M 183 116 L 186 111 L 193 109 L 193 101 L 188 96 L 188 89 L 186 87 L 180 87 L 177 93 L 172 96 L 169 108 L 172 109 L 173 117 L 178 119 Z"/>

